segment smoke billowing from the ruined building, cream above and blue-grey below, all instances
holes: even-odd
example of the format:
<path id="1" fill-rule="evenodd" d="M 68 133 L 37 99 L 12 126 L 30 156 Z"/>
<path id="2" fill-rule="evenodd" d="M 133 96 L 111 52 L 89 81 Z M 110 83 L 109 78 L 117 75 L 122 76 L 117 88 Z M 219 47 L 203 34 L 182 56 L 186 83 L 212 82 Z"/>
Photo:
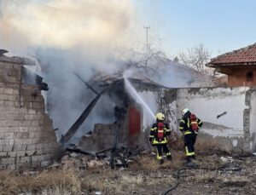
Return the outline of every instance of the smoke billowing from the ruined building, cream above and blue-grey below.
<path id="1" fill-rule="evenodd" d="M 1 48 L 38 61 L 37 73 L 49 84 L 47 110 L 59 137 L 96 96 L 74 73 L 86 82 L 97 72 L 109 75 L 135 67 L 152 76 L 145 65 L 167 64 L 169 74 L 158 68 L 162 77 L 154 79 L 153 74 L 154 81 L 170 87 L 191 83 L 189 73 L 173 71 L 178 67 L 172 67 L 172 60 L 162 60 L 161 53 L 140 64 L 148 56 L 142 52 L 145 32 L 129 0 L 0 0 L 0 29 Z M 104 95 L 77 137 L 93 129 L 94 123 L 113 123 L 109 113 L 115 104 Z"/>

